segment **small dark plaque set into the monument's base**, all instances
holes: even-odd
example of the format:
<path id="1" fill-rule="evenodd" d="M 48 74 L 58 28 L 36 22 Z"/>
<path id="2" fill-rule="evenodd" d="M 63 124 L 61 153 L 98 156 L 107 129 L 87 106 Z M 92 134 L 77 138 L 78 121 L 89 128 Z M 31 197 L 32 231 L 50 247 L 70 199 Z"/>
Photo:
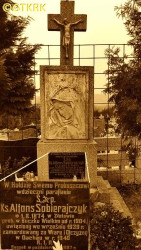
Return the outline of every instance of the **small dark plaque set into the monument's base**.
<path id="1" fill-rule="evenodd" d="M 50 179 L 83 179 L 85 177 L 85 153 L 49 153 Z"/>

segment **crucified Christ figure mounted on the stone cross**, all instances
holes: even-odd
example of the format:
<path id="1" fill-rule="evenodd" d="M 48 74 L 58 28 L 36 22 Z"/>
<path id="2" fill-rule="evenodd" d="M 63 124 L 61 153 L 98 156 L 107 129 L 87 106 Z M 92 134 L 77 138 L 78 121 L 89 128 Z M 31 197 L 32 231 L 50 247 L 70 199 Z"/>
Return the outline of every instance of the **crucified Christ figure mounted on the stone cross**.
<path id="1" fill-rule="evenodd" d="M 59 22 L 58 20 L 56 20 L 55 18 L 54 18 L 54 21 L 55 21 L 57 24 L 63 26 L 63 28 L 64 28 L 63 46 L 64 46 L 65 49 L 66 49 L 66 58 L 68 58 L 68 57 L 69 57 L 69 55 L 68 55 L 68 50 L 69 50 L 70 36 L 71 36 L 71 26 L 76 25 L 76 24 L 78 24 L 78 23 L 80 23 L 80 22 L 83 22 L 83 21 L 82 21 L 82 20 L 79 20 L 79 21 L 77 21 L 77 22 L 75 22 L 75 23 L 69 23 L 68 20 L 67 20 L 67 18 L 64 18 L 63 23 L 60 23 L 60 22 Z"/>

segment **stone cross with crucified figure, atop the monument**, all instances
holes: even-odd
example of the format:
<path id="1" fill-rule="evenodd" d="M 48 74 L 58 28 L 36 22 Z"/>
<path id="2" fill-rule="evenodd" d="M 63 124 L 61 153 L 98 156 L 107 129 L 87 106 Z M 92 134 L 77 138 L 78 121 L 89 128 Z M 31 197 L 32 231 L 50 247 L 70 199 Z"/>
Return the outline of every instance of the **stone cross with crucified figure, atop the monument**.
<path id="1" fill-rule="evenodd" d="M 73 65 L 74 31 L 86 31 L 86 23 L 86 15 L 74 14 L 74 1 L 61 1 L 61 14 L 48 15 L 48 30 L 61 31 L 61 65 Z"/>

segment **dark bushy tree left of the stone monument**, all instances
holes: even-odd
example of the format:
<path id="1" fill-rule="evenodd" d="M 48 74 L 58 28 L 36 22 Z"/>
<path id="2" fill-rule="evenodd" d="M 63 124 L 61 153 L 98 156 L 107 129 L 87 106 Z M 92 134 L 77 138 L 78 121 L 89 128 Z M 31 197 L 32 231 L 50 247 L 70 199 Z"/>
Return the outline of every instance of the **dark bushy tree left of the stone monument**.
<path id="1" fill-rule="evenodd" d="M 21 115 L 31 109 L 36 91 L 34 55 L 39 45 L 31 46 L 22 37 L 31 19 L 4 12 L 4 3 L 0 1 L 0 114 Z"/>

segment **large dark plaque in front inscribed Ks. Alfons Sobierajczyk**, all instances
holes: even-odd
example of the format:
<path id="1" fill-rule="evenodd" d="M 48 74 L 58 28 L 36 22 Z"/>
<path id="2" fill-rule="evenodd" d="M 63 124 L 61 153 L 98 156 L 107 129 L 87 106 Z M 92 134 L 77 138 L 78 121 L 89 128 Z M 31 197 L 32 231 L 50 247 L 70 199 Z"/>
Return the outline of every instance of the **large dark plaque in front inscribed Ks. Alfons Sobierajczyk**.
<path id="1" fill-rule="evenodd" d="M 12 250 L 88 249 L 89 183 L 0 183 L 0 245 Z"/>

